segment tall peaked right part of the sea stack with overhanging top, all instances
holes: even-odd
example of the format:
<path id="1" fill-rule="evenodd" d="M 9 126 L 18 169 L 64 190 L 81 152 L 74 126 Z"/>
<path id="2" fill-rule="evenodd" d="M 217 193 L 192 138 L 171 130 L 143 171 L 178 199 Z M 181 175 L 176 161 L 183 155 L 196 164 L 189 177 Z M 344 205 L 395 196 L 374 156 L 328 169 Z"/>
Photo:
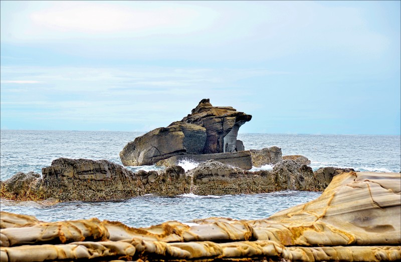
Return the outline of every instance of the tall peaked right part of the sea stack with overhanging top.
<path id="1" fill-rule="evenodd" d="M 251 119 L 251 115 L 237 112 L 232 107 L 215 107 L 209 99 L 203 99 L 181 121 L 206 128 L 204 154 L 213 154 L 241 151 L 242 143 L 240 148 L 237 147 L 238 130 Z"/>

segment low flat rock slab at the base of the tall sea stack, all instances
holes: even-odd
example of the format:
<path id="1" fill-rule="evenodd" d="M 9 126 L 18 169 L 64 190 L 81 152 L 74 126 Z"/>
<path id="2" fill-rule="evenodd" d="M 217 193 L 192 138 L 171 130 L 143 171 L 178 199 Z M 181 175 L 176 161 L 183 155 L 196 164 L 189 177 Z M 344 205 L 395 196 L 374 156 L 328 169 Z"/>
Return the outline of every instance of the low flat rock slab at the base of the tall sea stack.
<path id="1" fill-rule="evenodd" d="M 178 155 L 172 156 L 156 163 L 159 166 L 178 165 L 180 161 L 188 160 L 196 163 L 214 160 L 222 162 L 226 165 L 239 167 L 242 169 L 252 168 L 251 153 L 249 151 L 217 153 L 217 154 L 203 154 L 203 155 Z"/>

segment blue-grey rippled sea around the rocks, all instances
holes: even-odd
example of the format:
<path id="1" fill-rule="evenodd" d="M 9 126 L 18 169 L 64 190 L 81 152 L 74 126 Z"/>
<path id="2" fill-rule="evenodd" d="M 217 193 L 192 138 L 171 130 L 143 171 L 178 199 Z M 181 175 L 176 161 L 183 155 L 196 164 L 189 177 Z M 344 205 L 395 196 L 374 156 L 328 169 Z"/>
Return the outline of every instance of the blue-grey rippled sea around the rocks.
<path id="1" fill-rule="evenodd" d="M 119 152 L 144 132 L 110 131 L 0 131 L 0 179 L 17 172 L 34 171 L 51 165 L 59 157 L 106 159 L 122 165 Z M 239 133 L 245 149 L 278 146 L 283 155 L 304 155 L 313 170 L 334 166 L 356 171 L 400 172 L 401 137 L 393 135 L 254 134 Z M 185 170 L 198 163 L 179 163 Z M 157 166 L 129 166 L 132 171 L 159 170 Z M 272 169 L 266 165 L 252 170 Z M 192 193 L 175 197 L 144 195 L 119 201 L 69 201 L 46 204 L 0 199 L 0 210 L 29 214 L 43 221 L 97 217 L 146 227 L 169 220 L 187 222 L 195 218 L 230 217 L 260 219 L 280 210 L 316 199 L 320 192 L 279 191 L 263 194 L 208 195 Z"/>

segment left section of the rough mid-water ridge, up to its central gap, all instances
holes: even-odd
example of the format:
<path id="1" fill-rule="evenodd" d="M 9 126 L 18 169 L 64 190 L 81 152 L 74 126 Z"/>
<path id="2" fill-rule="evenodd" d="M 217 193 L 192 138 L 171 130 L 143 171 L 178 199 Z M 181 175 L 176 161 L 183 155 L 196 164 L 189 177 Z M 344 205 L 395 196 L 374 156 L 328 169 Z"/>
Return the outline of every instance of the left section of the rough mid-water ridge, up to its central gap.
<path id="1" fill-rule="evenodd" d="M 43 177 L 1 182 L 0 197 L 18 200 L 100 201 L 144 194 L 172 196 L 189 193 L 190 180 L 180 166 L 162 171 L 130 170 L 107 160 L 59 158 L 42 169 Z M 21 174 L 18 174 L 21 177 Z M 23 176 L 25 177 L 25 176 Z M 15 185 L 17 184 L 17 185 Z M 19 188 L 17 191 L 13 189 Z"/>

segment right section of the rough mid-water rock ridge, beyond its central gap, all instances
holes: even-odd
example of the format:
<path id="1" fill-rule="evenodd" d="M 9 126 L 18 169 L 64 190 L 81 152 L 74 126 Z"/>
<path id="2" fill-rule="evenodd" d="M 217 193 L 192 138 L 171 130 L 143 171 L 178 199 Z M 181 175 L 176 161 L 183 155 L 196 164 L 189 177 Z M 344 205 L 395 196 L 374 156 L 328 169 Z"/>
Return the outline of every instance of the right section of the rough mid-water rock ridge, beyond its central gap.
<path id="1" fill-rule="evenodd" d="M 191 192 L 198 195 L 266 193 L 281 190 L 323 191 L 312 168 L 286 160 L 272 171 L 249 172 L 217 161 L 206 161 L 186 173 L 192 177 Z"/>

